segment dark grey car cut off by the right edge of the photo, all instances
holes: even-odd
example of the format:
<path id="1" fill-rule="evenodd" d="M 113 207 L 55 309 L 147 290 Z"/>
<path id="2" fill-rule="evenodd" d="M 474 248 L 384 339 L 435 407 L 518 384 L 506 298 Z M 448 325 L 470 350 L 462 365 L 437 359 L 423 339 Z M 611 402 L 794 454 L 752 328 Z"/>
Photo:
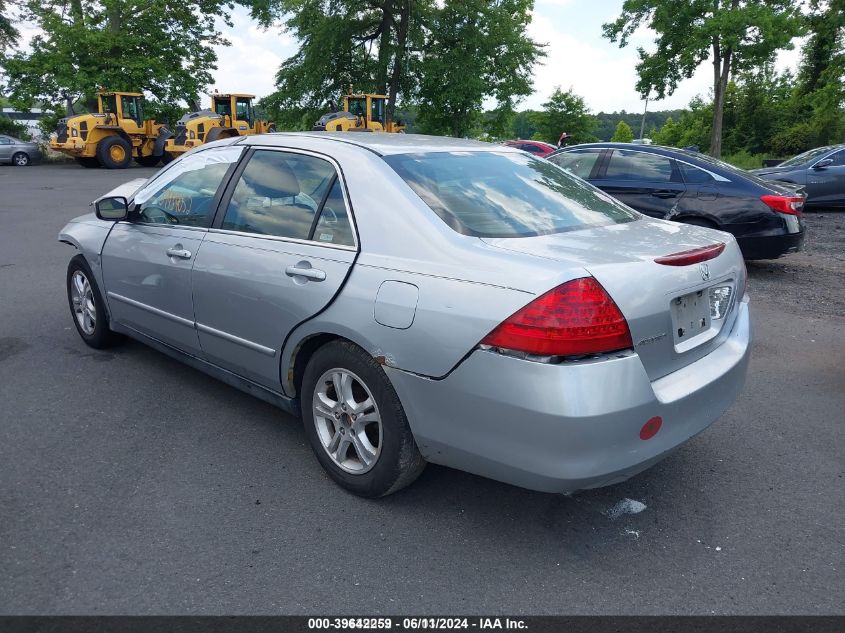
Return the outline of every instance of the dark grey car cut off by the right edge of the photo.
<path id="1" fill-rule="evenodd" d="M 764 180 L 803 185 L 808 209 L 845 207 L 845 145 L 817 147 L 777 167 L 755 169 L 752 173 Z"/>

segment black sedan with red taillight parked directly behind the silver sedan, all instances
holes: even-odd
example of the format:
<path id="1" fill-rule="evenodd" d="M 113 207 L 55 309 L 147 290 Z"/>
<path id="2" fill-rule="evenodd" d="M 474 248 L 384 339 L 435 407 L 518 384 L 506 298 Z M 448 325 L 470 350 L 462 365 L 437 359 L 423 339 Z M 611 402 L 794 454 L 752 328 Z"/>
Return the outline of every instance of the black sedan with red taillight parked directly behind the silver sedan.
<path id="1" fill-rule="evenodd" d="M 704 154 L 591 143 L 547 158 L 640 213 L 732 233 L 746 259 L 780 257 L 804 242 L 799 186 L 762 180 Z"/>

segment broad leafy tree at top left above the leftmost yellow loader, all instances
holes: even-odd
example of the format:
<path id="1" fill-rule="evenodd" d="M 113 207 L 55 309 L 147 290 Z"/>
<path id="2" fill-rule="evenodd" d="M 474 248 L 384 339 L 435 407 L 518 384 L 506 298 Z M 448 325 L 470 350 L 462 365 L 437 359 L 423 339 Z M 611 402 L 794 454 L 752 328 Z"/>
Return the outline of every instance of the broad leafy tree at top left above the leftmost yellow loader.
<path id="1" fill-rule="evenodd" d="M 9 96 L 71 109 L 102 86 L 171 104 L 197 100 L 216 68 L 213 46 L 227 43 L 213 18 L 229 23 L 230 7 L 226 0 L 26 0 L 24 17 L 41 32 L 31 50 L 2 62 Z"/>

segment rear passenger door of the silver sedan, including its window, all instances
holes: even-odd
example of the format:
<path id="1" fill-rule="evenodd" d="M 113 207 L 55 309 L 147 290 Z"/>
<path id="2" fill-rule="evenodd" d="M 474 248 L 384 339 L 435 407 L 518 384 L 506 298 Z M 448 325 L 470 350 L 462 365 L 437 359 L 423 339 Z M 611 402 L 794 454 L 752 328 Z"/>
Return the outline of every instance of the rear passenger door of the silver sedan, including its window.
<path id="1" fill-rule="evenodd" d="M 331 302 L 356 255 L 337 165 L 293 150 L 253 150 L 194 266 L 194 310 L 206 357 L 279 389 L 285 338 Z"/>

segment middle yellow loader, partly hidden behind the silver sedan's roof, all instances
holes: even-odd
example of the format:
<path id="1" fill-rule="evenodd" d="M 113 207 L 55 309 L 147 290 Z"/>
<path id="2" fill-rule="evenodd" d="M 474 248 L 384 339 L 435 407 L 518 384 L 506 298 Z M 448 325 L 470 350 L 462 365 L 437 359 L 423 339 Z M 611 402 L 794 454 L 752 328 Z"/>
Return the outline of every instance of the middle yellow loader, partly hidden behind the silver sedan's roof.
<path id="1" fill-rule="evenodd" d="M 176 123 L 173 137 L 165 145 L 168 158 L 223 138 L 275 132 L 273 123 L 258 120 L 253 99 L 255 95 L 212 93 L 210 110 L 191 112 Z"/>

